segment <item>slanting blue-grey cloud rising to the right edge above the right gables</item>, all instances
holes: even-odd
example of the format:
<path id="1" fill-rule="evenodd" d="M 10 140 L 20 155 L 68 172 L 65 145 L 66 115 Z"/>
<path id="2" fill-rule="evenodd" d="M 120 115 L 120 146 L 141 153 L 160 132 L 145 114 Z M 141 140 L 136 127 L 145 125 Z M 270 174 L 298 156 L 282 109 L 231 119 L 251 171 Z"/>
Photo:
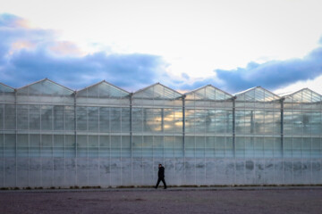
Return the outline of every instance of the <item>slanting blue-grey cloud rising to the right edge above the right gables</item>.
<path id="1" fill-rule="evenodd" d="M 299 81 L 308 81 L 322 75 L 322 47 L 314 49 L 302 59 L 250 62 L 245 68 L 214 70 L 215 75 L 183 84 L 182 89 L 193 89 L 212 84 L 229 93 L 237 93 L 253 86 L 276 90 Z"/>

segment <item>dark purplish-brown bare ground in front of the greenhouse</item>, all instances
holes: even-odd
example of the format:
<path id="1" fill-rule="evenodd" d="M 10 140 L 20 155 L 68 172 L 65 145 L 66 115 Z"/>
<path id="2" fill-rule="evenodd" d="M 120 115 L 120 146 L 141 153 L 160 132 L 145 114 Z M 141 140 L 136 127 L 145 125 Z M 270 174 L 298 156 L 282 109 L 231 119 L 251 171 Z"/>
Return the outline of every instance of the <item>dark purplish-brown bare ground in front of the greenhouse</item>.
<path id="1" fill-rule="evenodd" d="M 0 213 L 322 213 L 318 189 L 2 191 Z"/>

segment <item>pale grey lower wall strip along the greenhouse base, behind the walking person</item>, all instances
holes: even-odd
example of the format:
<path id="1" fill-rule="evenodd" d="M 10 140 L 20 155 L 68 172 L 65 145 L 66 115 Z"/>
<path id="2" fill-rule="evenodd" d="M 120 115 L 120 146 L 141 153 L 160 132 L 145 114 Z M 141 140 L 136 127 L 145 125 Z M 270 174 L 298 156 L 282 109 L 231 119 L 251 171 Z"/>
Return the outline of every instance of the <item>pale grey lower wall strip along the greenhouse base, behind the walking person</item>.
<path id="1" fill-rule="evenodd" d="M 155 185 L 318 185 L 321 159 L 64 159 L 5 158 L 1 187 Z"/>

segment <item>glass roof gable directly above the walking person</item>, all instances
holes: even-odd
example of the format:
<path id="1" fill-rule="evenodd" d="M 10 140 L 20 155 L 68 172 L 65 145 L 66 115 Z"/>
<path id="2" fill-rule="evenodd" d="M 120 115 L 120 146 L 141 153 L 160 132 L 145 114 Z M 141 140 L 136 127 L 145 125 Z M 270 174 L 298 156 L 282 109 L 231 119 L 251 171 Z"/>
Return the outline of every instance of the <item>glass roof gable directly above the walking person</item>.
<path id="1" fill-rule="evenodd" d="M 148 99 L 176 99 L 178 97 L 181 97 L 182 94 L 180 94 L 177 91 L 174 91 L 174 89 L 164 86 L 160 83 L 153 84 L 151 86 L 147 86 L 145 88 L 140 89 L 139 91 L 135 92 L 133 94 L 133 98 L 148 98 Z"/>

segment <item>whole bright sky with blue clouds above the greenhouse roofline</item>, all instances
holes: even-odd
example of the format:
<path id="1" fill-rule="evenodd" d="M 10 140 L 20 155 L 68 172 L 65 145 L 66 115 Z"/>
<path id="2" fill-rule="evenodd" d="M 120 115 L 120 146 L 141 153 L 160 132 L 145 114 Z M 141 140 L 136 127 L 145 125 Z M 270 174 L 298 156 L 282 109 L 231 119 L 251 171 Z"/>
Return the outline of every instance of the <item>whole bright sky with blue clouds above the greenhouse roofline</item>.
<path id="1" fill-rule="evenodd" d="M 322 94 L 316 0 L 0 0 L 0 82 Z"/>

